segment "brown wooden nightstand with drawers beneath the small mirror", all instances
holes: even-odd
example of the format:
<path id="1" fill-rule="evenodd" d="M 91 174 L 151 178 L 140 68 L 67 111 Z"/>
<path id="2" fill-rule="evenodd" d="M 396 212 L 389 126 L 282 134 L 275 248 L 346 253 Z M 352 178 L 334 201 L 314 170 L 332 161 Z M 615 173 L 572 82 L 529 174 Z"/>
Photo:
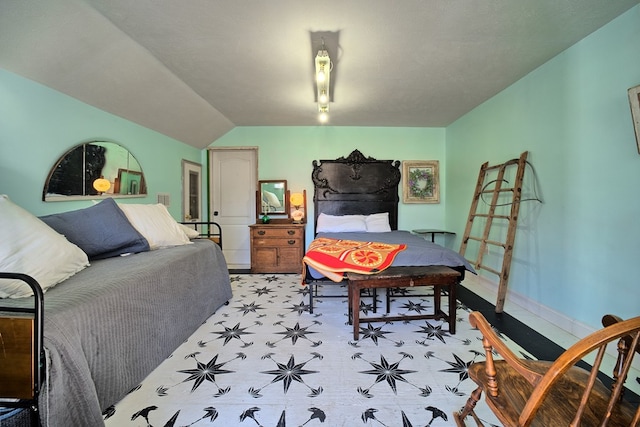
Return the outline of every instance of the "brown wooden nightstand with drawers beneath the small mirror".
<path id="1" fill-rule="evenodd" d="M 252 273 L 302 273 L 305 224 L 253 224 Z"/>

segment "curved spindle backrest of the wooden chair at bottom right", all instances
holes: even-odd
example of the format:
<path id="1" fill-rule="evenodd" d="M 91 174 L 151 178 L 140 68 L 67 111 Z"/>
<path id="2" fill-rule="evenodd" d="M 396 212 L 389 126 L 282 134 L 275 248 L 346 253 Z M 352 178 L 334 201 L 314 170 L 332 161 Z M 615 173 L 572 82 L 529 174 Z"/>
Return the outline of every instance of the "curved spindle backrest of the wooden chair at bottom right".
<path id="1" fill-rule="evenodd" d="M 605 320 L 606 318 L 606 320 Z M 621 320 L 615 316 L 605 316 L 603 324 L 605 328 L 594 332 L 591 335 L 581 339 L 576 344 L 568 348 L 560 357 L 549 367 L 549 370 L 542 376 L 535 389 L 526 403 L 522 413 L 520 414 L 520 425 L 530 425 L 537 410 L 542 405 L 544 398 L 550 392 L 551 388 L 571 369 L 577 362 L 582 360 L 586 355 L 595 353 L 595 360 L 592 363 L 591 373 L 585 385 L 584 392 L 581 396 L 578 411 L 573 420 L 573 425 L 580 425 L 585 409 L 591 407 L 591 412 L 602 414 L 601 425 L 607 425 L 616 406 L 621 403 L 622 391 L 624 383 L 631 368 L 631 363 L 635 354 L 640 349 L 640 317 L 629 320 Z M 606 323 L 605 323 L 606 322 Z M 598 371 L 604 359 L 606 347 L 609 343 L 618 342 L 620 366 L 616 367 L 614 373 L 614 384 L 606 405 L 602 408 L 595 409 L 592 407 L 593 402 L 589 401 L 594 385 L 597 380 Z M 622 348 L 622 351 L 620 349 Z M 636 351 L 628 351 L 628 349 L 636 349 Z M 629 424 L 632 426 L 640 423 L 640 407 L 635 411 L 634 421 Z"/>

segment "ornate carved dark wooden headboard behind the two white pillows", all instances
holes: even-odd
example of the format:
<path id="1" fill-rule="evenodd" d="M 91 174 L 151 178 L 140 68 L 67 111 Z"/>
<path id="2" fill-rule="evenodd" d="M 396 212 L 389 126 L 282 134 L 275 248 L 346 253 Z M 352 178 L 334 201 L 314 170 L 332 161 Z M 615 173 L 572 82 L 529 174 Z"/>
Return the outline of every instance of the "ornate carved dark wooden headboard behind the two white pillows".
<path id="1" fill-rule="evenodd" d="M 347 158 L 313 161 L 314 230 L 320 213 L 369 215 L 389 212 L 398 229 L 400 161 L 376 160 L 354 150 Z"/>

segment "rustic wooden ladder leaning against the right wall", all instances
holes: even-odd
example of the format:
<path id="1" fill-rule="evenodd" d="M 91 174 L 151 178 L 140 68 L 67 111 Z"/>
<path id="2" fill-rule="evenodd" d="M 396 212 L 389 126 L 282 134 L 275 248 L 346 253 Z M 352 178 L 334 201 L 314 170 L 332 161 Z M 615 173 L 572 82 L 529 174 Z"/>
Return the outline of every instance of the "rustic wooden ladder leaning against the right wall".
<path id="1" fill-rule="evenodd" d="M 498 285 L 498 299 L 496 301 L 496 313 L 502 313 L 504 308 L 504 300 L 507 294 L 507 283 L 509 281 L 509 270 L 511 268 L 511 257 L 513 255 L 513 243 L 516 237 L 516 228 L 518 222 L 518 212 L 520 210 L 520 201 L 522 197 L 522 180 L 524 177 L 524 171 L 527 164 L 527 154 L 525 151 L 520 155 L 519 159 L 512 159 L 508 162 L 489 166 L 489 162 L 485 162 L 480 167 L 480 173 L 478 174 L 478 182 L 476 183 L 475 193 L 473 195 L 473 201 L 471 202 L 471 208 L 469 210 L 469 219 L 464 230 L 464 236 L 462 238 L 462 244 L 460 246 L 460 254 L 465 256 L 467 250 L 467 244 L 470 240 L 480 242 L 478 254 L 475 261 L 467 259 L 476 270 L 486 270 L 490 273 L 497 275 L 500 278 Z M 504 179 L 505 172 L 510 166 L 518 166 L 516 171 L 515 182 L 512 187 L 505 188 L 503 183 L 507 182 Z M 497 170 L 497 177 L 494 180 L 487 180 L 488 173 Z M 488 182 L 485 182 L 488 181 Z M 495 183 L 495 184 L 494 184 Z M 508 183 L 508 182 L 507 182 Z M 494 184 L 493 189 L 487 189 L 488 186 Z M 511 199 L 508 203 L 502 205 L 510 205 L 510 213 L 508 215 L 497 215 L 496 208 L 498 201 L 502 200 L 500 197 L 504 196 L 504 193 L 511 192 Z M 483 194 L 491 194 L 491 204 L 487 212 L 479 211 L 479 201 Z M 484 231 L 482 236 L 472 236 L 472 229 L 474 220 L 483 218 L 485 219 Z M 507 233 L 504 241 L 490 240 L 490 233 L 494 220 L 503 221 L 500 224 L 504 224 L 504 221 L 508 221 Z M 488 252 L 489 246 L 501 247 L 504 251 L 502 257 L 502 268 L 500 271 L 493 269 L 483 264 L 483 258 L 485 253 Z"/>

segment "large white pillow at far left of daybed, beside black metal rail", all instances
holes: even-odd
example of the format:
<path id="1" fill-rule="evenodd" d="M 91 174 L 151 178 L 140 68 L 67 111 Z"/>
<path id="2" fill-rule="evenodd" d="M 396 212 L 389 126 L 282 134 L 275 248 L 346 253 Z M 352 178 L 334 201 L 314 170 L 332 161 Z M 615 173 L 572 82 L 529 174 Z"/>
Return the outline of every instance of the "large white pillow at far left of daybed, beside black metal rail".
<path id="1" fill-rule="evenodd" d="M 27 274 L 46 291 L 88 265 L 82 249 L 0 194 L 0 271 Z M 0 280 L 0 298 L 31 295 L 21 280 Z"/>

